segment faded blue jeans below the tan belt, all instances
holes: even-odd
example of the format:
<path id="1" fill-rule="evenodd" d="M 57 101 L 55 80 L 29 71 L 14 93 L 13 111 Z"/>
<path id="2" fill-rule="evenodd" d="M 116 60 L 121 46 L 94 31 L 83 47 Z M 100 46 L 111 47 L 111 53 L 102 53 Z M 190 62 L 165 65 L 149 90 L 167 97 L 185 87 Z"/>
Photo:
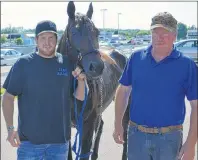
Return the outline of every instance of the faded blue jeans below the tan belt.
<path id="1" fill-rule="evenodd" d="M 128 128 L 128 160 L 178 160 L 183 131 L 149 134 Z"/>

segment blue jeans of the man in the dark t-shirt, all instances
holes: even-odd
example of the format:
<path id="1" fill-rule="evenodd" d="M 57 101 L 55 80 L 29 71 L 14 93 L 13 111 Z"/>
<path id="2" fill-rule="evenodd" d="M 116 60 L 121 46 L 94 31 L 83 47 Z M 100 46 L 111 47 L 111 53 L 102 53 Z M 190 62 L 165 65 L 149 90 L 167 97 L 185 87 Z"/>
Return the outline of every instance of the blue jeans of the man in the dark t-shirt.
<path id="1" fill-rule="evenodd" d="M 67 160 L 68 150 L 69 142 L 35 145 L 26 141 L 17 149 L 17 160 Z"/>

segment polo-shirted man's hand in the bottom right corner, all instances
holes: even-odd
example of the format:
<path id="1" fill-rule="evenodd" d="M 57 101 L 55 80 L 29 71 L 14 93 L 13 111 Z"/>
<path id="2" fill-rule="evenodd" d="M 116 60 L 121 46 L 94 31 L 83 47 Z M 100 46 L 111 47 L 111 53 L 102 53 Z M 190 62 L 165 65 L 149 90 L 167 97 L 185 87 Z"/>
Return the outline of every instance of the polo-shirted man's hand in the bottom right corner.
<path id="1" fill-rule="evenodd" d="M 185 142 L 179 153 L 179 160 L 194 160 L 195 157 L 195 146 L 189 145 Z"/>

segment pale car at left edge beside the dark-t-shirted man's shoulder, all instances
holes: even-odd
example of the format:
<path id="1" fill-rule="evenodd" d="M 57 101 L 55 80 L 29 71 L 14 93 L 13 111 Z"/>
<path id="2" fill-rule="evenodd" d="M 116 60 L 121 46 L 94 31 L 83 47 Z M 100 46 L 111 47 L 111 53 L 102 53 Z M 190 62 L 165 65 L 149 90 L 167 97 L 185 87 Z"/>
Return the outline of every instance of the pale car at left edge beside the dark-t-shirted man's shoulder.
<path id="1" fill-rule="evenodd" d="M 22 55 L 14 49 L 1 49 L 1 65 L 13 65 Z"/>

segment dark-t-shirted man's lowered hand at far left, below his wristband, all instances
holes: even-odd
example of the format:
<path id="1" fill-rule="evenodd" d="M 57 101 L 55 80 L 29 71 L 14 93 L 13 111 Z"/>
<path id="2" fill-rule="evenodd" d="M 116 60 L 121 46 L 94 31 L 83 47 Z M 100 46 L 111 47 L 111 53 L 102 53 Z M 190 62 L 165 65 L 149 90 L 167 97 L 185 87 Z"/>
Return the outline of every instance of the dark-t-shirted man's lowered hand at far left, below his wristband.
<path id="1" fill-rule="evenodd" d="M 15 130 L 8 131 L 7 141 L 9 141 L 13 147 L 19 147 L 21 144 L 18 132 Z"/>

